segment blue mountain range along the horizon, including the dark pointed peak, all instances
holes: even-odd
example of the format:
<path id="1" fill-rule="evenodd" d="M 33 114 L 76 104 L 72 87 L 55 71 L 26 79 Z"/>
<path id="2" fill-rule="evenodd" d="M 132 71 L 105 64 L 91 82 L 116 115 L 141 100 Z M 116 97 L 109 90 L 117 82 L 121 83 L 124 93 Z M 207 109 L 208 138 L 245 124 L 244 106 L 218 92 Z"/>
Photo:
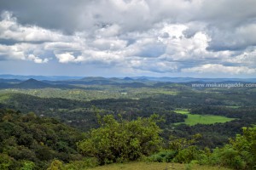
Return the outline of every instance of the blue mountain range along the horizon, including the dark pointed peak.
<path id="1" fill-rule="evenodd" d="M 0 88 L 79 88 L 75 85 L 118 85 L 141 88 L 166 83 L 256 82 L 256 78 L 193 78 L 193 77 L 41 77 L 0 75 Z"/>

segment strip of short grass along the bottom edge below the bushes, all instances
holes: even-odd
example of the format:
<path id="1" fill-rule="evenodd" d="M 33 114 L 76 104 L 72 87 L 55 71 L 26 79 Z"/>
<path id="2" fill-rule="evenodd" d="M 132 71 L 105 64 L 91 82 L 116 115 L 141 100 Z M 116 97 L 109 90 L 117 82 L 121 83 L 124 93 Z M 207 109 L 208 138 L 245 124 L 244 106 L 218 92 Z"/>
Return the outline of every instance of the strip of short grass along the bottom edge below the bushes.
<path id="1" fill-rule="evenodd" d="M 90 170 L 228 170 L 225 167 L 208 167 L 200 165 L 186 165 L 179 163 L 166 163 L 166 162 L 129 162 L 120 164 L 110 164 L 101 167 L 90 168 Z"/>

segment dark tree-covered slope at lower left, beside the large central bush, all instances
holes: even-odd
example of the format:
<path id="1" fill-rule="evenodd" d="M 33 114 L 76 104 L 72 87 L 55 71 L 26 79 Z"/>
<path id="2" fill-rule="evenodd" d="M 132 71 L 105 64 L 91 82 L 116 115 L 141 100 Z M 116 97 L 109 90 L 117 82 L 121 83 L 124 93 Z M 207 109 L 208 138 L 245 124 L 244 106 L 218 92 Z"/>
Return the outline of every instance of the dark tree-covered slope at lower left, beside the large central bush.
<path id="1" fill-rule="evenodd" d="M 52 118 L 0 110 L 0 169 L 43 168 L 58 158 L 79 160 L 76 142 L 82 134 Z"/>

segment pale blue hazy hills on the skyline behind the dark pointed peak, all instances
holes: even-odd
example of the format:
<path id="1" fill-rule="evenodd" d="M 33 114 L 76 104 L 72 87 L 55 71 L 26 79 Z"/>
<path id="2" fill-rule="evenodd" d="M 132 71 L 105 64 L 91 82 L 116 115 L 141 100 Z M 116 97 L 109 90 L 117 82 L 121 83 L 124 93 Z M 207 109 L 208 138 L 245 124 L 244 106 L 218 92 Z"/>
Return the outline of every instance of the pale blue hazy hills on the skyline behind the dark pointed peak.
<path id="1" fill-rule="evenodd" d="M 44 77 L 0 75 L 0 83 L 19 83 L 28 79 L 49 84 L 119 85 L 119 83 L 155 83 L 155 82 L 256 82 L 256 78 L 194 78 L 194 77 Z M 42 85 L 42 84 L 41 84 Z M 45 84 L 44 84 L 45 85 Z M 2 85 L 3 86 L 3 85 Z M 1 87 L 1 86 L 0 86 Z"/>

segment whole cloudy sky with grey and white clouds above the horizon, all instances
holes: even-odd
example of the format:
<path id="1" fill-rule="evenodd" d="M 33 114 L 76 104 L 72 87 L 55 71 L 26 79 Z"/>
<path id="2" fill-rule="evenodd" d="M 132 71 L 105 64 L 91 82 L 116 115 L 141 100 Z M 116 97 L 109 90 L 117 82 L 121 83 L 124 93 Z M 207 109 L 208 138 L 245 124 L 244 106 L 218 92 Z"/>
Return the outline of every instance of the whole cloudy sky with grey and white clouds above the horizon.
<path id="1" fill-rule="evenodd" d="M 255 77 L 255 0 L 0 0 L 0 74 Z"/>

